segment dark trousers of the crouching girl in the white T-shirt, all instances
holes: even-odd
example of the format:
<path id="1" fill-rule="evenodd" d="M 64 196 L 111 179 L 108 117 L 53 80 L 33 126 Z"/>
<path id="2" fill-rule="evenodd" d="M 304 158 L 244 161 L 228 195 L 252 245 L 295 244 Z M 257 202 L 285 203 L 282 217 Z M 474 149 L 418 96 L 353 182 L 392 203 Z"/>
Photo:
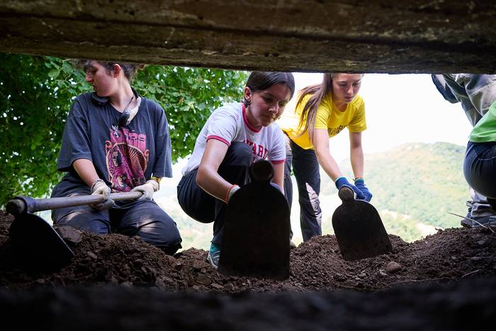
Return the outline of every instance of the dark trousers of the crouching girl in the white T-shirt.
<path id="1" fill-rule="evenodd" d="M 252 148 L 244 142 L 232 142 L 220 164 L 218 174 L 231 184 L 243 186 L 249 180 Z M 201 223 L 213 222 L 212 243 L 220 247 L 226 204 L 210 196 L 196 184 L 198 169 L 184 175 L 177 186 L 177 199 L 183 211 Z"/>

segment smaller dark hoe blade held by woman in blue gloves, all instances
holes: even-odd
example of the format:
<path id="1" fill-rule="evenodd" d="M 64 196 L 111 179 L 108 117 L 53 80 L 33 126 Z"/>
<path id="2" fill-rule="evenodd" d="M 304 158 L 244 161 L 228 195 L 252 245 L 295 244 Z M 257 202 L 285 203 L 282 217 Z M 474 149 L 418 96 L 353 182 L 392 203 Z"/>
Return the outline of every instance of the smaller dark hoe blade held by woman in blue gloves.
<path id="1" fill-rule="evenodd" d="M 338 196 L 343 203 L 332 215 L 332 228 L 343 258 L 354 261 L 391 252 L 393 247 L 376 208 L 356 200 L 347 186 L 339 189 Z"/>

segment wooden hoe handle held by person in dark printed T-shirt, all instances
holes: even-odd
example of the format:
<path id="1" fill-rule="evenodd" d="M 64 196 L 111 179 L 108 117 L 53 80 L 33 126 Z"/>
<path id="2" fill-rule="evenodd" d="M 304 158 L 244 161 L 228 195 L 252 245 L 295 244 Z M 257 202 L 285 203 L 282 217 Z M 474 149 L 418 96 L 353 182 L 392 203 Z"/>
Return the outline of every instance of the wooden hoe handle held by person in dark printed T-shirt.
<path id="1" fill-rule="evenodd" d="M 141 192 L 111 193 L 113 201 L 135 200 L 142 196 Z M 62 198 L 35 199 L 28 196 L 16 196 L 5 205 L 7 213 L 20 215 L 22 213 L 35 213 L 36 211 L 48 211 L 50 209 L 93 205 L 105 201 L 102 195 L 89 196 L 65 196 Z"/>

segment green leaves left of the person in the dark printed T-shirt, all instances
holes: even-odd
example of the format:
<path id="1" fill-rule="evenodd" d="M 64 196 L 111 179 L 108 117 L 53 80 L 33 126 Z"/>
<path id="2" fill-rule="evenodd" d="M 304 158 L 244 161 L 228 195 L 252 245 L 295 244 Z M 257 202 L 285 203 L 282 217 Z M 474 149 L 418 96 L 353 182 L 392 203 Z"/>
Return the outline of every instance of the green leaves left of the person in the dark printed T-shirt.
<path id="1" fill-rule="evenodd" d="M 87 86 L 54 57 L 0 54 L 0 204 L 14 195 L 43 196 L 60 179 L 57 157 L 71 103 Z"/>

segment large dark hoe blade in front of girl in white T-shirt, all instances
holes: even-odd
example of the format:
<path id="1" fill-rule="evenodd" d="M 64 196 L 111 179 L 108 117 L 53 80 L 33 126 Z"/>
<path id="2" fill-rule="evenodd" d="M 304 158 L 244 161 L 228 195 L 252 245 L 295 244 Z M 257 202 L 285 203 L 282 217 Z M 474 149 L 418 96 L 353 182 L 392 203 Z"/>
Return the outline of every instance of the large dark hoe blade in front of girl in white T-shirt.
<path id="1" fill-rule="evenodd" d="M 237 276 L 289 277 L 289 206 L 271 185 L 270 162 L 254 162 L 251 182 L 237 190 L 225 212 L 219 272 Z"/>

